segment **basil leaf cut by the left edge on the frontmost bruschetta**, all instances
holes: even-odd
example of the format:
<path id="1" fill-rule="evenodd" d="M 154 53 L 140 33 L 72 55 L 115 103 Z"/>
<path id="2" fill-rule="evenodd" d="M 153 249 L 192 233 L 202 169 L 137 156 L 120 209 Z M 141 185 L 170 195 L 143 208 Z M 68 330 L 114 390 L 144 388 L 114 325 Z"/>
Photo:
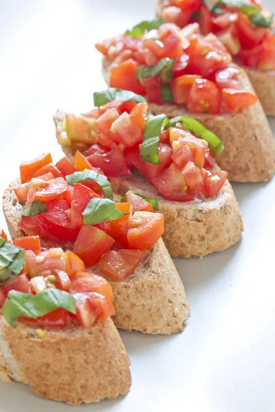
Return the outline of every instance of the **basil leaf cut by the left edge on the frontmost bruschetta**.
<path id="1" fill-rule="evenodd" d="M 17 277 L 25 266 L 25 251 L 0 238 L 0 286 Z"/>

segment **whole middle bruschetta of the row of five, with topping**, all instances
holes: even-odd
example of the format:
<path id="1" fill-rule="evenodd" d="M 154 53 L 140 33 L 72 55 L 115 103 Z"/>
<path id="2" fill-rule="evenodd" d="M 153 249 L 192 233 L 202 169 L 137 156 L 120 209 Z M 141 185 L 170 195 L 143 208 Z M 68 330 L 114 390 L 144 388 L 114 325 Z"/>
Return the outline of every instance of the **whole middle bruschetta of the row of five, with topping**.
<path id="1" fill-rule="evenodd" d="M 98 107 L 80 116 L 56 113 L 58 142 L 76 165 L 82 155 L 101 168 L 126 201 L 155 199 L 170 255 L 203 256 L 241 238 L 239 205 L 215 165 L 223 145 L 214 133 L 187 117 L 153 117 L 142 96 L 120 89 L 95 93 L 94 101 Z"/>

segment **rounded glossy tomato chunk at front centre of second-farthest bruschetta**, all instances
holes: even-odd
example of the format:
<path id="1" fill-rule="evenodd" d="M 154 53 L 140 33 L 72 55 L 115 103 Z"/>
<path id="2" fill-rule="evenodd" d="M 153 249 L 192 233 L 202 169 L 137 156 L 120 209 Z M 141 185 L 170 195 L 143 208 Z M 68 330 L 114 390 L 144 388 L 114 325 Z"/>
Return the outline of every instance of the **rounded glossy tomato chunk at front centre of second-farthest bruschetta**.
<path id="1" fill-rule="evenodd" d="M 216 84 L 206 79 L 195 80 L 190 89 L 187 108 L 191 113 L 219 113 L 221 94 Z"/>

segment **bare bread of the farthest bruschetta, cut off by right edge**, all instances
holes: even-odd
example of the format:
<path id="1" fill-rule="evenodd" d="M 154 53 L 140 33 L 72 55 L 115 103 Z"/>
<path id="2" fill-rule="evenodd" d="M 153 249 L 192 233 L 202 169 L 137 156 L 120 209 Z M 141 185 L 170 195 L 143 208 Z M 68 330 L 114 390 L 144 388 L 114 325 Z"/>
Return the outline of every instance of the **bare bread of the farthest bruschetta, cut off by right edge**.
<path id="1" fill-rule="evenodd" d="M 213 5 L 215 3 L 214 1 Z M 157 16 L 160 17 L 162 15 L 162 8 L 166 6 L 166 0 L 157 0 Z M 273 30 L 275 31 L 275 26 Z M 236 64 L 238 64 L 237 61 Z M 252 87 L 259 97 L 265 114 L 267 116 L 275 116 L 275 71 L 262 71 L 245 66 L 242 66 L 242 68 L 250 78 Z"/>

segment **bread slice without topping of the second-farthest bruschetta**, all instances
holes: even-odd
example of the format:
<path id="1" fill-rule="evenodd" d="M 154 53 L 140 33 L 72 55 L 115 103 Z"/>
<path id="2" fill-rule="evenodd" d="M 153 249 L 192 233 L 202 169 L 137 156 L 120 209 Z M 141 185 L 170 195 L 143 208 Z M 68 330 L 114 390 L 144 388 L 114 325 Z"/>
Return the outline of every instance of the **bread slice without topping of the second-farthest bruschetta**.
<path id="1" fill-rule="evenodd" d="M 109 84 L 110 60 L 103 58 L 102 73 Z M 240 68 L 239 68 L 240 69 Z M 255 93 L 250 80 L 241 70 L 245 89 Z M 230 181 L 269 181 L 275 173 L 275 139 L 260 102 L 245 108 L 242 113 L 208 115 L 190 113 L 186 106 L 149 103 L 154 115 L 164 113 L 169 118 L 188 116 L 198 120 L 223 141 L 225 150 L 218 158 L 219 166 L 226 170 Z"/>

